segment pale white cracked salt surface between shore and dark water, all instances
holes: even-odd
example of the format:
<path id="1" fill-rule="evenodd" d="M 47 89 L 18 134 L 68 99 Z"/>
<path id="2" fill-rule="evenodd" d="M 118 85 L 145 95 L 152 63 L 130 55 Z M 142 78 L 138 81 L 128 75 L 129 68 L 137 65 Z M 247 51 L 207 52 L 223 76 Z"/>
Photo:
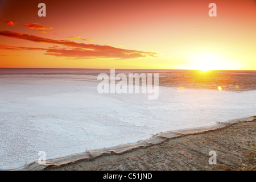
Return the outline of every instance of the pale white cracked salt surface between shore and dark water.
<path id="1" fill-rule="evenodd" d="M 160 86 L 146 94 L 98 94 L 92 77 L 0 77 L 0 168 L 148 139 L 161 131 L 255 115 L 256 91 Z"/>

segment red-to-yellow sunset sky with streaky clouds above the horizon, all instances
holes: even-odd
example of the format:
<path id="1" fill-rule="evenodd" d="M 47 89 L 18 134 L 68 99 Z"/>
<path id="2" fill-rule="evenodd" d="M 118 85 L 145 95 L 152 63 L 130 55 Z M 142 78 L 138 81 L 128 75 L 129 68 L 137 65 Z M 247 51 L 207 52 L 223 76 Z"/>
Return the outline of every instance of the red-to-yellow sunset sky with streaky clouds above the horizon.
<path id="1" fill-rule="evenodd" d="M 255 0 L 0 0 L 0 68 L 256 70 L 255 30 Z"/>

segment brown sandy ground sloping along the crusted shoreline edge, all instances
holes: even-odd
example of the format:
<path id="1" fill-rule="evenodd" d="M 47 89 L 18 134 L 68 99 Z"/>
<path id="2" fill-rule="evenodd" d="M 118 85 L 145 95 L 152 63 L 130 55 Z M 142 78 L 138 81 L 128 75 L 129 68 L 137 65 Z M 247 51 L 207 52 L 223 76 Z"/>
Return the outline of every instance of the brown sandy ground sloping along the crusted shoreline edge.
<path id="1" fill-rule="evenodd" d="M 256 122 L 170 139 L 122 155 L 100 156 L 45 170 L 256 170 Z M 210 165 L 216 151 L 217 165 Z"/>

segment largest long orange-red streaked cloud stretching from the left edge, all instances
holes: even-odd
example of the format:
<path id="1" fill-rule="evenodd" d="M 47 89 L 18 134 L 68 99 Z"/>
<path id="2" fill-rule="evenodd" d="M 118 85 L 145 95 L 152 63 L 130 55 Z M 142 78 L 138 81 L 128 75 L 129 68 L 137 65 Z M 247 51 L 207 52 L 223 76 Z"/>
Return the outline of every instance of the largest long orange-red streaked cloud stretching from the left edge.
<path id="1" fill-rule="evenodd" d="M 79 57 L 79 58 L 97 58 L 97 57 L 112 57 L 117 59 L 134 59 L 139 57 L 155 57 L 158 53 L 144 52 L 130 49 L 115 48 L 112 46 L 100 46 L 97 44 L 77 43 L 69 40 L 54 40 L 43 38 L 42 36 L 29 35 L 25 33 L 13 31 L 0 31 L 0 35 L 9 38 L 30 40 L 37 43 L 58 44 L 62 47 L 50 47 L 46 50 L 46 55 L 64 56 L 64 57 Z M 8 48 L 8 47 L 7 47 Z M 6 49 L 7 49 L 6 48 Z M 16 47 L 19 48 L 19 47 Z M 33 49 L 33 48 L 24 48 Z M 40 49 L 40 48 L 34 48 Z"/>

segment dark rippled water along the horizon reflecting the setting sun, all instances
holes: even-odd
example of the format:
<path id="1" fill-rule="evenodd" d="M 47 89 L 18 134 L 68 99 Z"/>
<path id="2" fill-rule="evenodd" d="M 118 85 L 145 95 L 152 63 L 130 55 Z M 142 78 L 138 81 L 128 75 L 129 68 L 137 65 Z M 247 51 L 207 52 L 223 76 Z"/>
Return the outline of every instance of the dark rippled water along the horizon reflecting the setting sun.
<path id="1" fill-rule="evenodd" d="M 77 75 L 94 76 L 97 80 L 100 73 L 110 69 L 28 69 L 0 68 L 1 75 Z M 159 73 L 159 86 L 193 89 L 217 89 L 246 91 L 256 89 L 256 71 L 192 71 L 192 70 L 148 70 L 148 69 L 115 69 L 115 73 Z"/>

